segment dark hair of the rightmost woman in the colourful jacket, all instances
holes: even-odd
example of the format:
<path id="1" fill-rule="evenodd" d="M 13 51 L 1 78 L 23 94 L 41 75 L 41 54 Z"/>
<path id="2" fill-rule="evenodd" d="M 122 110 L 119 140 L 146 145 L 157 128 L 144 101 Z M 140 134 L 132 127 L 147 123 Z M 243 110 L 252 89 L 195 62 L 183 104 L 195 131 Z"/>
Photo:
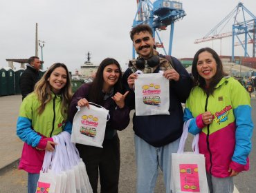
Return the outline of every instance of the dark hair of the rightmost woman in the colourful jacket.
<path id="1" fill-rule="evenodd" d="M 216 74 L 212 77 L 212 81 L 210 81 L 210 85 L 208 88 L 205 88 L 205 79 L 200 77 L 199 72 L 197 72 L 196 68 L 199 54 L 201 54 L 201 52 L 209 52 L 210 54 L 212 54 L 212 57 L 215 59 L 217 64 Z M 213 94 L 214 87 L 223 77 L 227 76 L 228 74 L 224 72 L 221 59 L 219 58 L 219 55 L 214 50 L 212 50 L 212 48 L 201 48 L 196 52 L 196 54 L 194 54 L 194 59 L 192 63 L 192 75 L 194 77 L 194 85 L 199 85 L 199 87 L 201 87 L 207 94 Z"/>

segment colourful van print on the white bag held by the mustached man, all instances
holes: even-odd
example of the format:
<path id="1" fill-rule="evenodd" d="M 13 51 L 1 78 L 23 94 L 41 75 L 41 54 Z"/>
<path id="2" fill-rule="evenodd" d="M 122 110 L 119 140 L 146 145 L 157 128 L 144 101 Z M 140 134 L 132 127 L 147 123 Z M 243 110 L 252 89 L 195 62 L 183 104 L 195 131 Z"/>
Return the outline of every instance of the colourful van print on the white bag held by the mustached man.
<path id="1" fill-rule="evenodd" d="M 154 83 L 143 85 L 143 103 L 145 105 L 160 105 L 160 94 L 160 85 L 154 85 Z"/>

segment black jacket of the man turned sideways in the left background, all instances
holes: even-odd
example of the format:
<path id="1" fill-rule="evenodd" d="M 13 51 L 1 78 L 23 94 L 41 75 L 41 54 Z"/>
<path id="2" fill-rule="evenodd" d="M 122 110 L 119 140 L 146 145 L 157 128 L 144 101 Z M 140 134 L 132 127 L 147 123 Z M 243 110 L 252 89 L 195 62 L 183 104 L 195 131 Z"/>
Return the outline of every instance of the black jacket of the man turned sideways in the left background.
<path id="1" fill-rule="evenodd" d="M 22 101 L 30 93 L 34 91 L 35 83 L 39 81 L 39 72 L 35 68 L 27 66 L 26 70 L 19 78 L 19 87 L 21 88 Z"/>

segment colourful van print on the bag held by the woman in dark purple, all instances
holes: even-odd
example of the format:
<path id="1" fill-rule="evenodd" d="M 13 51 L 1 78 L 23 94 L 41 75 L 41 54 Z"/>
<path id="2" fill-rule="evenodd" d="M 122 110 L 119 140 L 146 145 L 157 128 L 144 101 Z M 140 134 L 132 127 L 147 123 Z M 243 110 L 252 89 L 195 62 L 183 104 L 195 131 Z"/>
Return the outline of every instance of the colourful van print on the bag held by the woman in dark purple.
<path id="1" fill-rule="evenodd" d="M 97 135 L 98 118 L 92 115 L 82 115 L 80 133 L 94 138 Z"/>

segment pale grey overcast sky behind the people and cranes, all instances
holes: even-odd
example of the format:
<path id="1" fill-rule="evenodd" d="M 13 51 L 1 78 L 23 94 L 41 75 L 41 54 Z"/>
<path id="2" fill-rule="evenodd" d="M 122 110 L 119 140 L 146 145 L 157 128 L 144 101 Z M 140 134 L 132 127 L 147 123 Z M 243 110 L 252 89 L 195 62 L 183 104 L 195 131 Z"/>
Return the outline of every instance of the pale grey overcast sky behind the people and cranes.
<path id="1" fill-rule="evenodd" d="M 239 1 L 182 2 L 187 15 L 175 23 L 172 56 L 193 57 L 199 48 L 212 48 L 212 45 L 219 54 L 221 50 L 221 54 L 231 55 L 231 38 L 223 39 L 221 46 L 219 40 L 199 44 L 194 44 L 194 40 L 204 37 Z M 255 0 L 241 2 L 256 15 Z M 55 62 L 62 62 L 74 72 L 86 61 L 86 53 L 91 52 L 93 63 L 98 64 L 106 57 L 113 57 L 125 70 L 125 63 L 132 57 L 129 31 L 135 14 L 136 0 L 2 0 L 0 66 L 8 66 L 6 59 L 27 59 L 35 55 L 35 23 L 38 23 L 38 39 L 46 41 L 43 48 L 45 68 Z M 231 24 L 228 28 L 228 31 L 232 31 Z M 168 50 L 170 26 L 159 34 Z M 248 45 L 248 53 L 251 57 L 251 45 Z M 235 48 L 235 54 L 244 55 L 238 47 Z M 40 48 L 38 56 L 41 58 Z M 19 64 L 16 63 L 15 67 L 19 68 Z"/>

